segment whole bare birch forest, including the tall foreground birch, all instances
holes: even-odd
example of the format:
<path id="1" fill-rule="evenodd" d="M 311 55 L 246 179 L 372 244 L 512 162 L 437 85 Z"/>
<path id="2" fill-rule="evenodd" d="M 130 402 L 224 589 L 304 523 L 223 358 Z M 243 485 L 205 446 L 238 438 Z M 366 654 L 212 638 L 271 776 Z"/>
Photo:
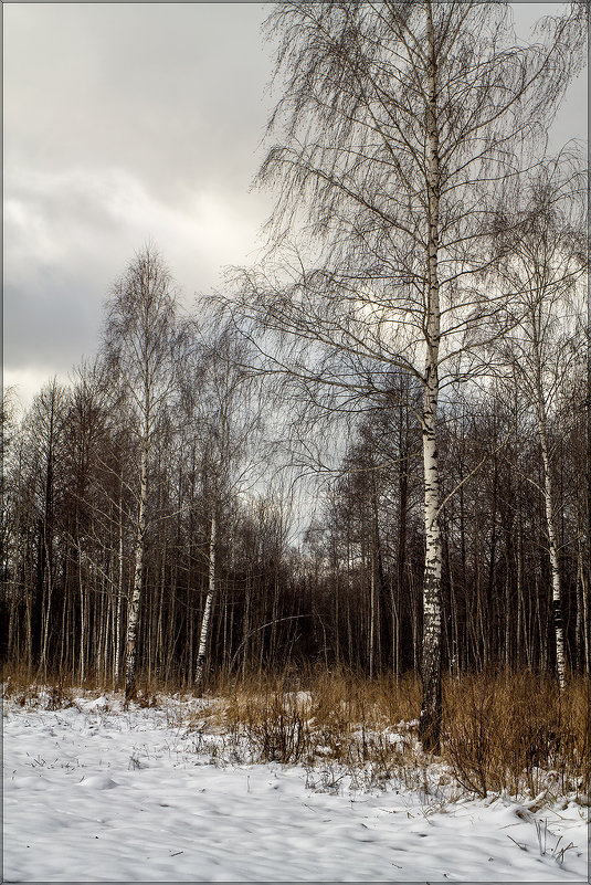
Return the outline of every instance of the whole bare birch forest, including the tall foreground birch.
<path id="1" fill-rule="evenodd" d="M 434 752 L 442 685 L 589 676 L 587 12 L 270 11 L 263 257 L 194 301 L 138 244 L 72 383 L 4 391 L 7 673 L 416 678 Z"/>

